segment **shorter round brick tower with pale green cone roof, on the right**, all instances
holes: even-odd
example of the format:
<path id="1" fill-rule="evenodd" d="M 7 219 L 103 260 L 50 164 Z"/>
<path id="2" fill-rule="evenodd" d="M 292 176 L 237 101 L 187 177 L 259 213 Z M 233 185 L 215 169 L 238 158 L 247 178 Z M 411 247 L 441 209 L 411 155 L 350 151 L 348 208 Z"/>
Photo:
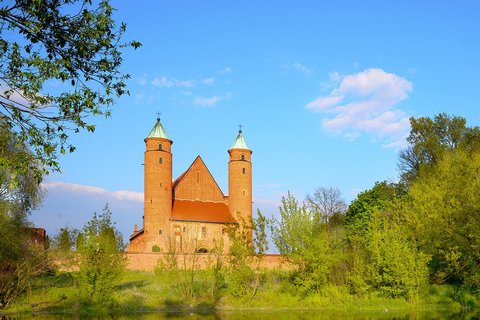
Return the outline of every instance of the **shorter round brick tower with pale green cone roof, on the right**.
<path id="1" fill-rule="evenodd" d="M 238 131 L 237 139 L 228 150 L 228 206 L 230 215 L 242 225 L 247 225 L 252 218 L 252 151 Z"/>

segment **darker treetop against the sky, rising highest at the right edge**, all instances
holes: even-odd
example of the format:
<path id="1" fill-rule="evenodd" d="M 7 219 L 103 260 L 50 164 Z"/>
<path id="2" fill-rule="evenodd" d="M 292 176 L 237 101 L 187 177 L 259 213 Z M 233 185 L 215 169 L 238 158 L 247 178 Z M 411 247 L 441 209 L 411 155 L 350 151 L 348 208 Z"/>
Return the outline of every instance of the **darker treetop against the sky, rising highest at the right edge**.
<path id="1" fill-rule="evenodd" d="M 421 167 L 434 166 L 447 150 L 478 150 L 480 128 L 467 127 L 466 119 L 445 113 L 429 117 L 410 118 L 410 144 L 399 153 L 398 169 L 404 182 L 418 177 Z"/>

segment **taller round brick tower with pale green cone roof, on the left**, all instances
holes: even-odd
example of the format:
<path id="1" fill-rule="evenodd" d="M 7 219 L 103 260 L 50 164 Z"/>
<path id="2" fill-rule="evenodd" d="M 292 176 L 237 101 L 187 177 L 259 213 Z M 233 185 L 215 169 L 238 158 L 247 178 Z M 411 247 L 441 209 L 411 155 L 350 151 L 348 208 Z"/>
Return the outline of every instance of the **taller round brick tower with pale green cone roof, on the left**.
<path id="1" fill-rule="evenodd" d="M 163 247 L 169 232 L 172 214 L 172 140 L 157 118 L 157 123 L 145 139 L 145 200 L 143 230 L 144 250 L 154 245 Z"/>

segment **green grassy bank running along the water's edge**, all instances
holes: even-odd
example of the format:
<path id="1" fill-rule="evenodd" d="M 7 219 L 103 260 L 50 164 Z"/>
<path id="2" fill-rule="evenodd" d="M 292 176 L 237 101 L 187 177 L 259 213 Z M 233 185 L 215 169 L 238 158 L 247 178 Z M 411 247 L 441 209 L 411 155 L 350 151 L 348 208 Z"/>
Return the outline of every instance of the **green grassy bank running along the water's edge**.
<path id="1" fill-rule="evenodd" d="M 35 278 L 31 289 L 4 313 L 74 312 L 79 314 L 129 314 L 132 312 L 198 312 L 228 310 L 474 310 L 480 306 L 478 296 L 464 288 L 430 286 L 417 301 L 391 299 L 378 293 L 362 298 L 349 293 L 347 287 L 331 286 L 320 293 L 298 292 L 285 271 L 265 271 L 254 297 L 234 297 L 228 277 L 212 292 L 210 275 L 197 271 L 191 287 L 172 273 L 126 271 L 121 284 L 107 300 L 92 302 L 82 295 L 71 273 Z M 190 288 L 186 294 L 186 288 Z M 0 311 L 2 312 L 2 311 Z"/>

